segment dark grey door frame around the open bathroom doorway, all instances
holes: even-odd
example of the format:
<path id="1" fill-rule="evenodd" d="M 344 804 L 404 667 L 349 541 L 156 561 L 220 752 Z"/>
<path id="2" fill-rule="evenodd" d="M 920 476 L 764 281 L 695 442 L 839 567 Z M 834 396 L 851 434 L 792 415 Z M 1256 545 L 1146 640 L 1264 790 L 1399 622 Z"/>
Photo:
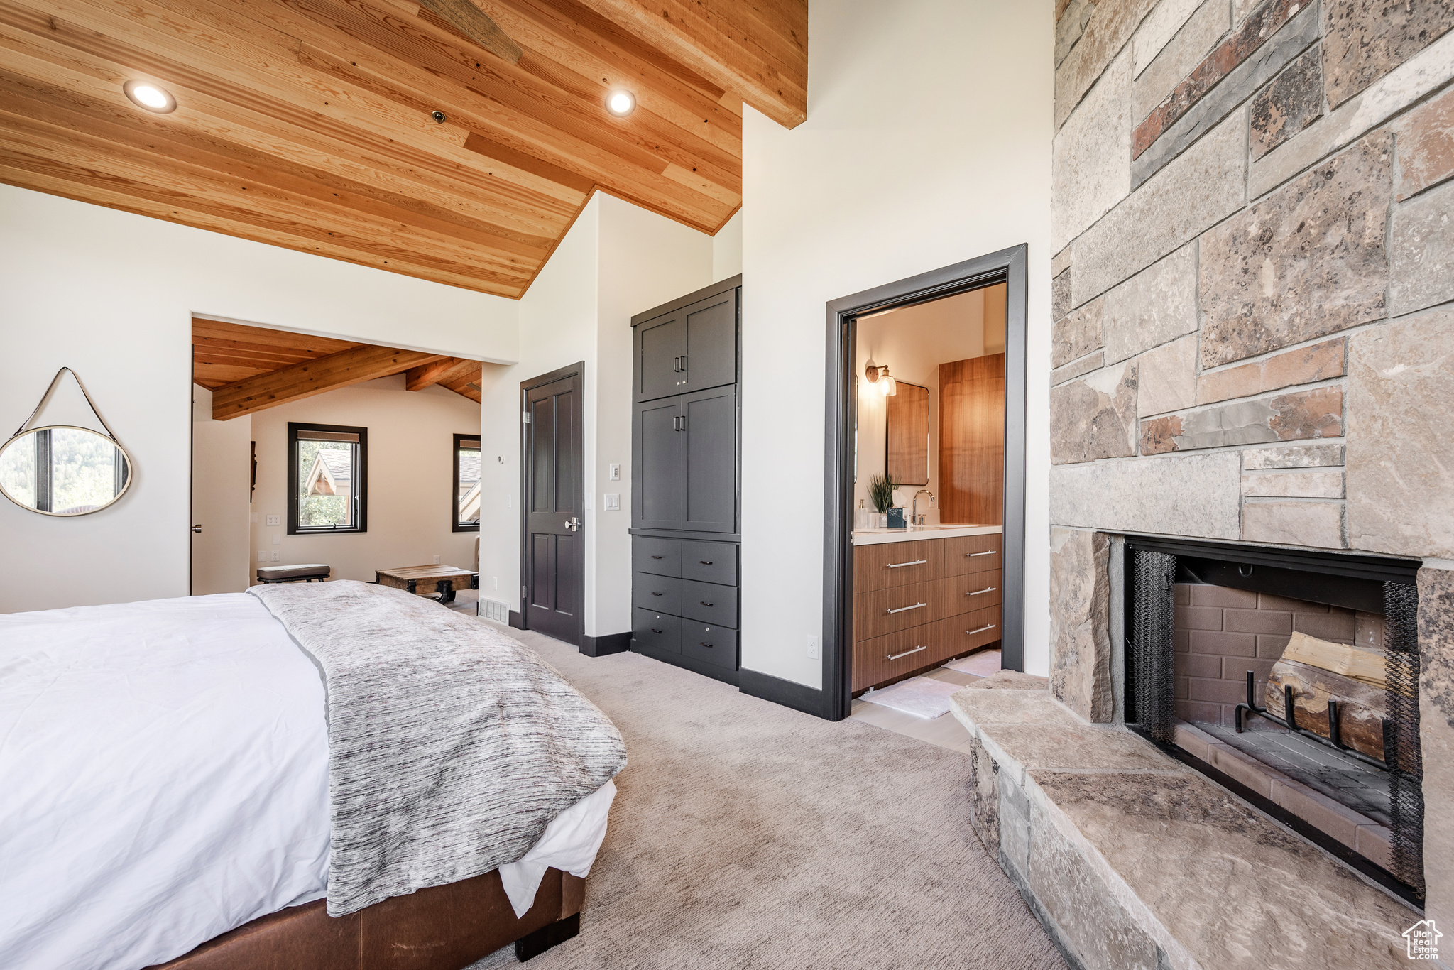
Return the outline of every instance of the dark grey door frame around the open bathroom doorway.
<path id="1" fill-rule="evenodd" d="M 1002 663 L 1025 669 L 1025 326 L 1029 281 L 1022 243 L 827 304 L 827 420 L 823 493 L 822 717 L 852 705 L 853 350 L 861 316 L 1006 284 L 1005 294 L 1005 557 Z"/>

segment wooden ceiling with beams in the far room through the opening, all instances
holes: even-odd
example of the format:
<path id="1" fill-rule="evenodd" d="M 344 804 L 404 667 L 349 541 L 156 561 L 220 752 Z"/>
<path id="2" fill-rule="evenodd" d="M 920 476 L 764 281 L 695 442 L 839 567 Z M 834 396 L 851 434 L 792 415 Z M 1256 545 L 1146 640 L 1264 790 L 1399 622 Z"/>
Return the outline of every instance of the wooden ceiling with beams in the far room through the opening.
<path id="1" fill-rule="evenodd" d="M 406 374 L 406 390 L 438 384 L 478 404 L 481 371 L 478 361 L 439 353 L 192 320 L 192 380 L 212 391 L 217 420 L 393 374 Z"/>

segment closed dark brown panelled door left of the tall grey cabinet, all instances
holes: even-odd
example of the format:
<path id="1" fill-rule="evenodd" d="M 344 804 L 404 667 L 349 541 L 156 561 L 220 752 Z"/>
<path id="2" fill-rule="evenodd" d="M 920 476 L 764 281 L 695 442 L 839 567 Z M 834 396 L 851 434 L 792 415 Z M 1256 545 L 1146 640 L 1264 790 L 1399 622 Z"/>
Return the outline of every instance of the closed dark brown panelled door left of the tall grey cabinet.
<path id="1" fill-rule="evenodd" d="M 576 646 L 586 602 L 583 371 L 577 364 L 521 384 L 525 628 Z"/>

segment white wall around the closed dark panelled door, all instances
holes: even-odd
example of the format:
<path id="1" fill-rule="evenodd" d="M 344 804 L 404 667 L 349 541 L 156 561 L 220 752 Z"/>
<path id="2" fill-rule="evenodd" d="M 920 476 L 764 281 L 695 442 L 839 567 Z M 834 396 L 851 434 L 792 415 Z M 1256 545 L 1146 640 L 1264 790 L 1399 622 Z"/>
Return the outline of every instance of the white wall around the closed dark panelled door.
<path id="1" fill-rule="evenodd" d="M 712 237 L 599 192 L 561 240 L 521 300 L 519 364 L 486 368 L 483 596 L 521 609 L 521 381 L 585 361 L 586 634 L 631 628 L 631 317 L 707 286 L 712 265 Z M 608 492 L 621 510 L 602 510 Z"/>

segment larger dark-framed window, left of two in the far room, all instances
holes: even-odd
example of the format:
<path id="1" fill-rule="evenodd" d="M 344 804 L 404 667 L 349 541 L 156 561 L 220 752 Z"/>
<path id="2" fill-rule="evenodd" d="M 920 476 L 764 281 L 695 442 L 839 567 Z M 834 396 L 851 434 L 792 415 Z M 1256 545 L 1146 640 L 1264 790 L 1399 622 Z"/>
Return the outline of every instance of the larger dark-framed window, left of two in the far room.
<path id="1" fill-rule="evenodd" d="M 368 429 L 288 422 L 288 535 L 368 531 Z"/>

